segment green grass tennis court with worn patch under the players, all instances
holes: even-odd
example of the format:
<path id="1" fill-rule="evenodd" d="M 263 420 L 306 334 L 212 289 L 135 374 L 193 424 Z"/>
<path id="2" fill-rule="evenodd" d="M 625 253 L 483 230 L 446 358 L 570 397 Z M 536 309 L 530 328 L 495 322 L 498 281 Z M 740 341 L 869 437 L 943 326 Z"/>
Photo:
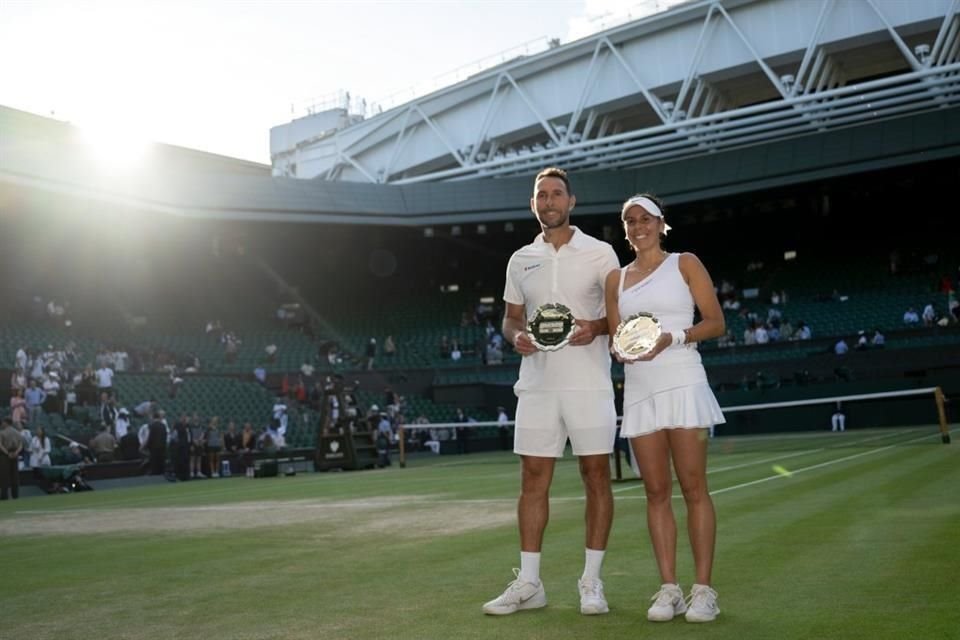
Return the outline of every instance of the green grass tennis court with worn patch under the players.
<path id="1" fill-rule="evenodd" d="M 958 447 L 933 425 L 712 441 L 722 613 L 707 625 L 645 618 L 659 580 L 637 481 L 614 486 L 611 612 L 580 615 L 569 456 L 543 549 L 550 604 L 505 617 L 480 605 L 519 562 L 507 453 L 21 499 L 0 505 L 2 637 L 958 638 Z M 684 532 L 678 486 L 674 506 Z M 682 536 L 685 589 L 691 563 Z"/>

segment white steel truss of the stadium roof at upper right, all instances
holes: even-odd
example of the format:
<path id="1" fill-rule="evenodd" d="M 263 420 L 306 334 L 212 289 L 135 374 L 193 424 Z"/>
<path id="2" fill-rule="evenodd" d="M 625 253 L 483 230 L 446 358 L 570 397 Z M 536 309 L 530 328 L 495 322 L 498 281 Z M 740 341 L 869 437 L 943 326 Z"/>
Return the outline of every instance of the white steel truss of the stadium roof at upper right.
<path id="1" fill-rule="evenodd" d="M 897 2 L 681 5 L 310 139 L 289 158 L 315 151 L 332 164 L 314 175 L 394 184 L 510 176 L 550 164 L 635 168 L 957 105 L 960 0 L 912 0 L 925 10 L 918 15 L 905 15 Z M 777 25 L 747 13 L 771 5 L 805 12 L 800 44 L 777 50 L 765 31 Z M 855 12 L 861 33 L 837 35 L 838 12 Z M 684 71 L 673 78 L 657 78 L 625 53 L 670 29 L 686 29 L 675 36 L 686 60 L 675 62 Z M 856 36 L 860 42 L 844 48 Z M 885 66 L 863 53 L 878 50 Z M 729 56 L 737 64 L 718 69 L 717 51 L 738 52 Z M 558 82 L 566 103 L 540 104 Z M 275 154 L 275 172 L 287 159 Z"/>

